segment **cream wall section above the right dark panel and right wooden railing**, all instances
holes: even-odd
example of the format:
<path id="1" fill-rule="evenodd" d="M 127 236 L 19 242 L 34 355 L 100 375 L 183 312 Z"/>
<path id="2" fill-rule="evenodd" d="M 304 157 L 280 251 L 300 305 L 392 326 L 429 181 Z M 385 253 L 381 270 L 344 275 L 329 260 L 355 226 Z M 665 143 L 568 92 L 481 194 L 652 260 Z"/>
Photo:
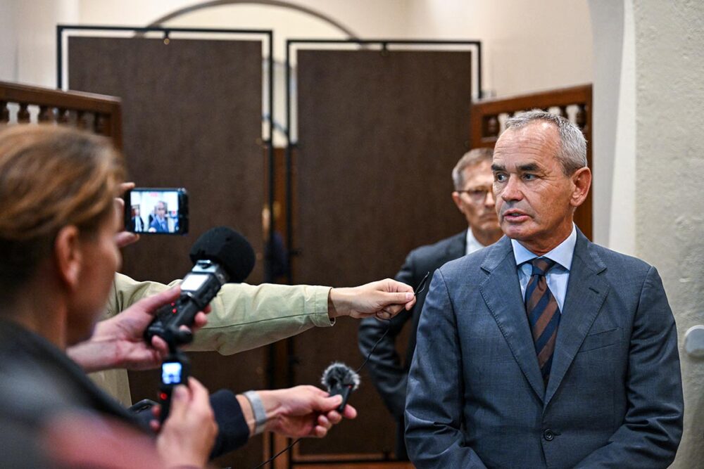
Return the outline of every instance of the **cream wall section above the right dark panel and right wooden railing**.
<path id="1" fill-rule="evenodd" d="M 592 81 L 586 0 L 409 0 L 408 35 L 480 39 L 484 89 L 510 96 Z"/>

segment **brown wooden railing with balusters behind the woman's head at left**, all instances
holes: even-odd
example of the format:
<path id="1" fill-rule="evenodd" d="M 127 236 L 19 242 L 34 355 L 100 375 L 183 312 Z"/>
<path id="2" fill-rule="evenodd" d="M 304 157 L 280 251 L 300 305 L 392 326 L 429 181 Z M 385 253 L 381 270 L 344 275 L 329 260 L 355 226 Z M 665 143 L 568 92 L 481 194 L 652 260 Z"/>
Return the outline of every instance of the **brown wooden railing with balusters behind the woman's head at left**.
<path id="1" fill-rule="evenodd" d="M 111 137 L 122 147 L 120 98 L 0 82 L 0 124 L 56 122 Z"/>

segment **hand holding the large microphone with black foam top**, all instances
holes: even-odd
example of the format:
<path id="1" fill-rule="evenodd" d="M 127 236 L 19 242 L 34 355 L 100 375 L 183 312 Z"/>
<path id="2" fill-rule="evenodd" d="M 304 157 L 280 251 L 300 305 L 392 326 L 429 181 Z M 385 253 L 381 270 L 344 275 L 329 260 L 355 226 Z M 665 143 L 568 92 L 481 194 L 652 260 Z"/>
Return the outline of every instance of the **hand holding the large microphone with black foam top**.
<path id="1" fill-rule="evenodd" d="M 100 321 L 89 340 L 68 348 L 68 356 L 87 373 L 108 368 L 147 370 L 158 367 L 168 354 L 168 345 L 156 336 L 151 339 L 151 344 L 146 343 L 144 330 L 154 319 L 156 311 L 176 300 L 180 292 L 178 286 L 171 288 L 132 304 L 111 319 Z M 206 314 L 201 311 L 196 314 L 193 329 L 197 330 L 207 322 Z"/>

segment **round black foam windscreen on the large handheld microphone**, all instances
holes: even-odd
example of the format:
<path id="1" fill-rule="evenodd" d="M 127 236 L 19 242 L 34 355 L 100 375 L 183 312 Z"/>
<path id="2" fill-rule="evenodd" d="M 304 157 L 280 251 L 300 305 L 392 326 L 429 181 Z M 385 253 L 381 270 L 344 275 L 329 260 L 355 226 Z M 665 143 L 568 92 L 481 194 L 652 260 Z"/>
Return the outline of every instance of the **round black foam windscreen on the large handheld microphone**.
<path id="1" fill-rule="evenodd" d="M 227 226 L 217 226 L 201 235 L 191 248 L 191 262 L 210 260 L 222 266 L 230 282 L 243 282 L 252 269 L 256 256 L 247 238 Z"/>

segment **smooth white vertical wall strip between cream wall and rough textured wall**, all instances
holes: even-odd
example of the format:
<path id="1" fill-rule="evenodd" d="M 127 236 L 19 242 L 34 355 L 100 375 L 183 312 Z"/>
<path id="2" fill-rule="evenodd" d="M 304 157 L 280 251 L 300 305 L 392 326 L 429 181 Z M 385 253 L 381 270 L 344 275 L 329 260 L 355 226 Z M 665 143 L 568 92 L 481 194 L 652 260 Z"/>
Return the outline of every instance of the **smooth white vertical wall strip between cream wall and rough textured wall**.
<path id="1" fill-rule="evenodd" d="M 632 0 L 590 0 L 593 240 L 635 254 L 636 79 Z"/>

